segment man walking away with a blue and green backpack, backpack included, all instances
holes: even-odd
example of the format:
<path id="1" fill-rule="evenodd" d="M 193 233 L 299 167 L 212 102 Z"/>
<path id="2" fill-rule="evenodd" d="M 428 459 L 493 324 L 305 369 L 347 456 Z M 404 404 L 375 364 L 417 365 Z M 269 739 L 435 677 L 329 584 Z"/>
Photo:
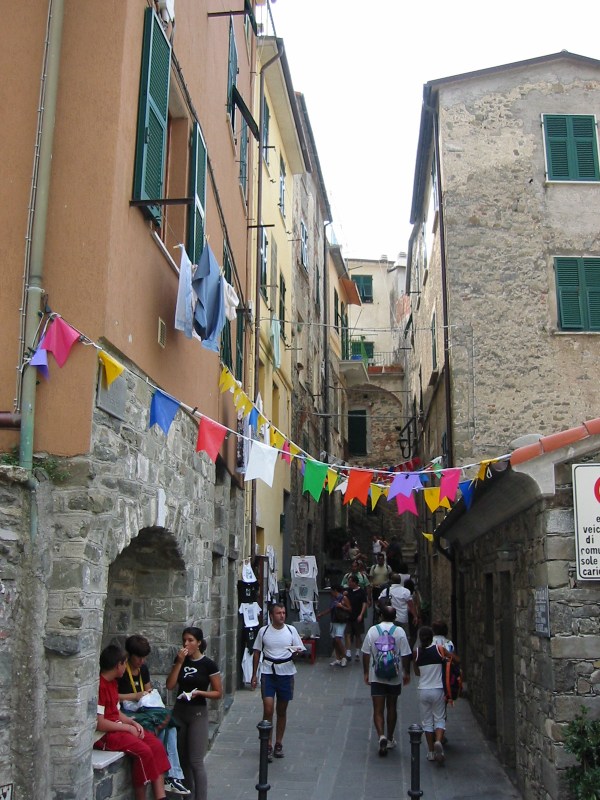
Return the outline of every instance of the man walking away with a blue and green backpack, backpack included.
<path id="1" fill-rule="evenodd" d="M 383 606 L 381 622 L 369 628 L 362 646 L 365 683 L 371 686 L 373 724 L 382 757 L 396 746 L 398 697 L 402 686 L 410 681 L 410 645 L 395 617 L 392 606 Z"/>

